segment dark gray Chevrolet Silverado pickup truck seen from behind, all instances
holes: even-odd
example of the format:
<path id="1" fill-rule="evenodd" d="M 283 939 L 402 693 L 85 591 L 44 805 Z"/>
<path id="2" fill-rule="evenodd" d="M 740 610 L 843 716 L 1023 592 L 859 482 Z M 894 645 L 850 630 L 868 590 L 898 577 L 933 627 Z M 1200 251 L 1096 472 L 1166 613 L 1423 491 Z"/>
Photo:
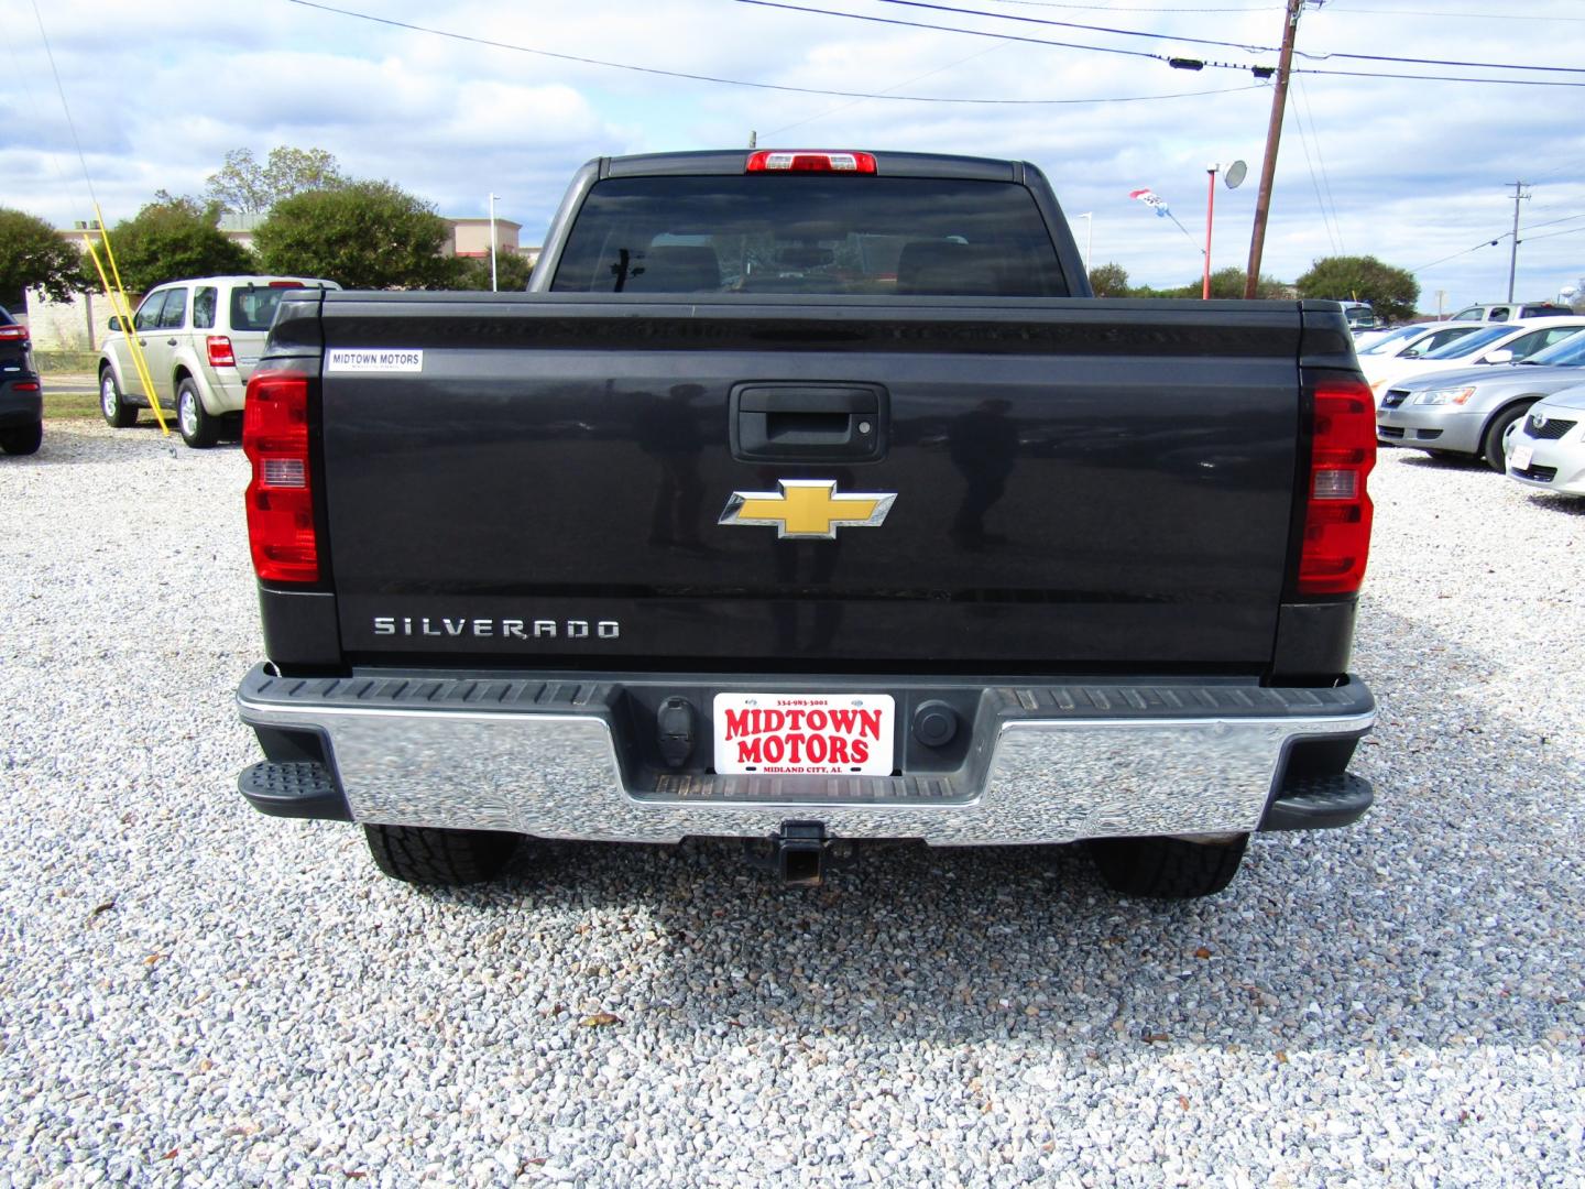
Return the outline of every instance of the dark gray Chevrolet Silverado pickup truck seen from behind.
<path id="1" fill-rule="evenodd" d="M 1341 309 L 1097 301 L 1022 162 L 590 162 L 526 293 L 287 295 L 244 445 L 243 794 L 396 878 L 1084 842 L 1203 896 L 1371 802 Z"/>

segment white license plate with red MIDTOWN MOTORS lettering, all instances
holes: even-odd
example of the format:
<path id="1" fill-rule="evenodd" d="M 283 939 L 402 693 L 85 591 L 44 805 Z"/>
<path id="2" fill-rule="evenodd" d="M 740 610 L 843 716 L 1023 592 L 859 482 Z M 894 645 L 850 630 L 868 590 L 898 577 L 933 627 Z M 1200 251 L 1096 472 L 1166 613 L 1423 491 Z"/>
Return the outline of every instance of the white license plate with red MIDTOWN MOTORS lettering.
<path id="1" fill-rule="evenodd" d="M 891 694 L 716 694 L 715 770 L 889 777 L 896 715 Z"/>

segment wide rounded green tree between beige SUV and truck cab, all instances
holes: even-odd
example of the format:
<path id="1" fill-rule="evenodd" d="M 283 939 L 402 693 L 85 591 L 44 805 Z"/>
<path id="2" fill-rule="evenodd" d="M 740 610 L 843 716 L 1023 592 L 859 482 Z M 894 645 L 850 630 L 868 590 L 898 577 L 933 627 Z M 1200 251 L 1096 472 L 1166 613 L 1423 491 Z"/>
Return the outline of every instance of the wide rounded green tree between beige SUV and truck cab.
<path id="1" fill-rule="evenodd" d="M 284 198 L 258 227 L 266 271 L 317 276 L 347 289 L 449 289 L 461 262 L 434 208 L 390 182 L 350 182 Z"/>

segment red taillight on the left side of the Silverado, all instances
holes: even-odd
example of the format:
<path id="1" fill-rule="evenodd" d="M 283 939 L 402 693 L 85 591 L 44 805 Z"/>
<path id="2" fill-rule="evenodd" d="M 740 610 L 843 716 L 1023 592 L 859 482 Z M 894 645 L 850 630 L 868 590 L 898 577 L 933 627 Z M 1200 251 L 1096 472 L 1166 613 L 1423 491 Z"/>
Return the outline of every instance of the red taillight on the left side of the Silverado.
<path id="1" fill-rule="evenodd" d="M 247 541 L 265 582 L 317 582 L 314 488 L 307 458 L 307 376 L 260 371 L 247 382 L 243 450 L 254 465 L 247 485 Z"/>

